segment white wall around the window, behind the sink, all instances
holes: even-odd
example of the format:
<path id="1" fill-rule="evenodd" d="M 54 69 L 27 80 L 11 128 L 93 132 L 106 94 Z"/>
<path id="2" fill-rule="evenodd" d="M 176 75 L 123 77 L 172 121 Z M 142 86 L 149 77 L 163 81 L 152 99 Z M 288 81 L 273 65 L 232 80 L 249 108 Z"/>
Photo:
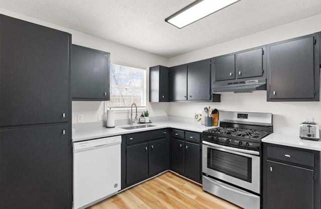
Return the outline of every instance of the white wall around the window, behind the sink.
<path id="1" fill-rule="evenodd" d="M 39 19 L 28 17 L 16 12 L 12 12 L 6 9 L 0 8 L 0 13 L 16 17 L 19 19 L 27 20 L 37 24 L 45 25 L 55 29 L 63 30 L 72 34 L 72 43 L 83 45 L 98 50 L 108 51 L 111 54 L 111 61 L 117 63 L 123 63 L 131 66 L 142 67 L 147 70 L 147 83 L 148 81 L 148 69 L 150 66 L 162 64 L 168 64 L 168 58 L 148 53 L 146 51 L 138 50 L 132 47 L 128 47 L 116 42 L 112 42 L 106 39 L 98 38 L 88 35 L 83 32 L 61 27 L 59 25 L 51 24 Z M 130 37 L 128 37 L 130 38 Z M 148 88 L 148 85 L 147 85 Z M 147 101 L 149 97 L 147 95 Z M 167 115 L 168 104 L 150 104 L 147 102 L 147 108 L 150 111 L 150 116 L 163 116 Z M 83 114 L 84 122 L 92 122 L 102 120 L 104 112 L 104 102 L 102 101 L 73 101 L 72 102 L 72 122 L 77 122 L 77 114 Z M 128 112 L 116 113 L 118 119 L 125 119 L 129 117 Z"/>

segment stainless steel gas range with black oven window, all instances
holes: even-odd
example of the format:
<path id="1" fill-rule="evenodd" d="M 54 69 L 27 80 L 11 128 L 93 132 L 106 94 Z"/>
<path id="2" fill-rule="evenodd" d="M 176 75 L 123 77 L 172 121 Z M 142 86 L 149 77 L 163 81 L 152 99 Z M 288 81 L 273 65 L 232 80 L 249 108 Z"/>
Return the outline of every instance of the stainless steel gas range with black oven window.
<path id="1" fill-rule="evenodd" d="M 261 139 L 272 113 L 220 111 L 220 126 L 203 131 L 203 189 L 246 209 L 261 205 Z"/>

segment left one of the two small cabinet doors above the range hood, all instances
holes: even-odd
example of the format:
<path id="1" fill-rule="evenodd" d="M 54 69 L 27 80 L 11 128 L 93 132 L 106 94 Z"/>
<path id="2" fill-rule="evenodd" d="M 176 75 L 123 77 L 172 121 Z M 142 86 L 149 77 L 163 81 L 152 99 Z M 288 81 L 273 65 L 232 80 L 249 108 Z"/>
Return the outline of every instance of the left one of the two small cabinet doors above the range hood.
<path id="1" fill-rule="evenodd" d="M 235 54 L 228 54 L 213 58 L 214 80 L 235 79 Z"/>

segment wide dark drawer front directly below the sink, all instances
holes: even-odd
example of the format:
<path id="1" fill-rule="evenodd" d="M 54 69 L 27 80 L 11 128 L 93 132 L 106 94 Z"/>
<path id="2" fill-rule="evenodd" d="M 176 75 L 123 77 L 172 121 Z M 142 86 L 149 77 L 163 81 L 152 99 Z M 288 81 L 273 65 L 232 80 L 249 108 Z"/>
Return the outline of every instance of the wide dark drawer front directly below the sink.
<path id="1" fill-rule="evenodd" d="M 157 138 L 166 138 L 167 136 L 168 136 L 168 129 L 159 129 L 159 130 L 130 133 L 126 135 L 126 143 L 127 145 L 130 145 L 130 144 L 135 144 L 135 143 L 157 139 Z"/>

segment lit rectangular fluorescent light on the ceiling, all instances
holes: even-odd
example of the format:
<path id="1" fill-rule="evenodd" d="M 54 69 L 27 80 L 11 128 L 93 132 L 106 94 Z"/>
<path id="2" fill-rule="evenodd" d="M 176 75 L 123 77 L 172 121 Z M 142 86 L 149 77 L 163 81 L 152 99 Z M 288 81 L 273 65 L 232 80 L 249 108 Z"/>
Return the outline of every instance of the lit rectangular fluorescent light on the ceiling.
<path id="1" fill-rule="evenodd" d="M 165 21 L 178 28 L 182 28 L 237 1 L 240 0 L 196 0 L 167 17 Z"/>

